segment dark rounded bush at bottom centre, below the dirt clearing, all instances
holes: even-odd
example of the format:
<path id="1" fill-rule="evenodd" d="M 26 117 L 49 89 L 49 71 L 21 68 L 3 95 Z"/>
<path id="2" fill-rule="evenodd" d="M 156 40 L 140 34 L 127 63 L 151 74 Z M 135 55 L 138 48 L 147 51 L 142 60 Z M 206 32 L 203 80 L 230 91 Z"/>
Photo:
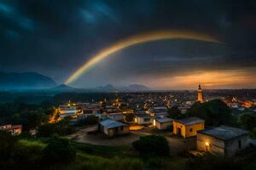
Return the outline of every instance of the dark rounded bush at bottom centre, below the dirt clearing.
<path id="1" fill-rule="evenodd" d="M 169 146 L 165 137 L 148 135 L 142 136 L 139 140 L 132 143 L 132 146 L 142 156 L 157 155 L 167 156 L 169 155 Z"/>

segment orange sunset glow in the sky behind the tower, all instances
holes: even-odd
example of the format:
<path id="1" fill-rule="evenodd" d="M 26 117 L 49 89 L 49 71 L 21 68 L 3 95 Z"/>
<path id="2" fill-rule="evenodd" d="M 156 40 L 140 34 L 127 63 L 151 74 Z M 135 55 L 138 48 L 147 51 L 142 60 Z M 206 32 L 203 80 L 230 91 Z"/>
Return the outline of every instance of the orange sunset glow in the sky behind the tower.
<path id="1" fill-rule="evenodd" d="M 195 89 L 199 83 L 202 88 L 239 88 L 256 84 L 253 75 L 246 71 L 200 71 L 189 75 L 160 77 L 147 81 L 148 85 L 160 89 Z"/>

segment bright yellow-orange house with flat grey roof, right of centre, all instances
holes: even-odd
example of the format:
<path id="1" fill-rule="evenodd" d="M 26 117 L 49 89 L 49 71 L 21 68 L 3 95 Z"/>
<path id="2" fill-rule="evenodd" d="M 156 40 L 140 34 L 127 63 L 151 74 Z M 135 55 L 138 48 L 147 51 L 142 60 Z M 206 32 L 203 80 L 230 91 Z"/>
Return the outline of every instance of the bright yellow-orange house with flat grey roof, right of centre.
<path id="1" fill-rule="evenodd" d="M 173 134 L 183 138 L 196 136 L 196 132 L 204 128 L 205 121 L 195 116 L 173 121 Z"/>

